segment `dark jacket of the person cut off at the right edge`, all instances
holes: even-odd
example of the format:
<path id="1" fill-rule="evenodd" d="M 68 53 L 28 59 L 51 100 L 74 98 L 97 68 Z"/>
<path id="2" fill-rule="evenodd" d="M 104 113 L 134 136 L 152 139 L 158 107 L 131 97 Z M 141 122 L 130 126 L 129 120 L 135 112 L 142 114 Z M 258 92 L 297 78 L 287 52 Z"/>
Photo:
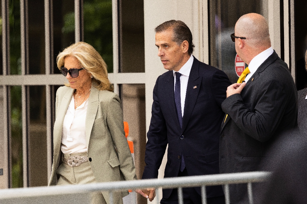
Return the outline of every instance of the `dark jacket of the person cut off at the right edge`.
<path id="1" fill-rule="evenodd" d="M 302 131 L 307 131 L 307 88 L 297 92 L 298 98 L 298 128 Z"/>

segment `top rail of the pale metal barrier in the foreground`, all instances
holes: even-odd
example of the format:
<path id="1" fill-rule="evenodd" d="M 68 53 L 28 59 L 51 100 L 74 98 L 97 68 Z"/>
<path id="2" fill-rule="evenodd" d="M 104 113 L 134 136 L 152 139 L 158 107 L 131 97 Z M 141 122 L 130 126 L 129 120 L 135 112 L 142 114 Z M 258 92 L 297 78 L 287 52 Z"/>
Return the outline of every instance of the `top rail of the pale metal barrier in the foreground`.
<path id="1" fill-rule="evenodd" d="M 0 199 L 16 197 L 32 197 L 46 195 L 72 194 L 74 192 L 92 191 L 126 191 L 144 188 L 177 188 L 215 186 L 236 183 L 262 182 L 268 179 L 270 172 L 244 172 L 231 174 L 216 174 L 205 176 L 185 176 L 165 179 L 144 179 L 132 181 L 116 181 L 105 183 L 88 183 L 82 185 L 30 187 L 0 190 Z"/>

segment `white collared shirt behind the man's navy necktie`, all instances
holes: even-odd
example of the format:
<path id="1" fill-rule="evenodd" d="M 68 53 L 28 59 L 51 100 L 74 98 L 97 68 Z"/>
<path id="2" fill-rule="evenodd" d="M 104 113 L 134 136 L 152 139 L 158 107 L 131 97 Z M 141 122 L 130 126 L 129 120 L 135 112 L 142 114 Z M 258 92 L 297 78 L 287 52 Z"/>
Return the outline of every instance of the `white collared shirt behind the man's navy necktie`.
<path id="1" fill-rule="evenodd" d="M 180 76 L 180 98 L 181 98 L 181 112 L 182 112 L 182 117 L 183 117 L 183 111 L 185 109 L 185 94 L 187 92 L 187 86 L 188 86 L 188 80 L 189 80 L 189 75 L 190 71 L 192 68 L 192 64 L 194 61 L 193 55 L 191 55 L 190 59 L 188 59 L 187 62 L 180 68 L 178 71 L 181 76 Z M 174 75 L 174 90 L 175 90 L 175 84 L 176 84 L 176 71 L 173 70 L 173 75 Z"/>

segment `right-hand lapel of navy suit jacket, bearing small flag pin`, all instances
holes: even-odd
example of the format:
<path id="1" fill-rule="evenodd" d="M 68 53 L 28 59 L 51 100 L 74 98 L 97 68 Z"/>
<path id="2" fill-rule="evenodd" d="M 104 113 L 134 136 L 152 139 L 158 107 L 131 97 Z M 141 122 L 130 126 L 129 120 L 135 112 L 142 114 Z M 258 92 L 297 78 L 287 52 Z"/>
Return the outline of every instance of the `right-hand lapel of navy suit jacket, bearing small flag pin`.
<path id="1" fill-rule="evenodd" d="M 202 77 L 199 77 L 198 69 L 199 69 L 199 61 L 194 57 L 194 61 L 193 61 L 189 79 L 188 79 L 187 92 L 185 95 L 185 108 L 184 108 L 183 118 L 182 118 L 181 133 L 187 127 L 188 121 L 194 109 L 194 106 L 197 100 L 197 96 L 200 90 L 200 83 L 201 83 Z"/>

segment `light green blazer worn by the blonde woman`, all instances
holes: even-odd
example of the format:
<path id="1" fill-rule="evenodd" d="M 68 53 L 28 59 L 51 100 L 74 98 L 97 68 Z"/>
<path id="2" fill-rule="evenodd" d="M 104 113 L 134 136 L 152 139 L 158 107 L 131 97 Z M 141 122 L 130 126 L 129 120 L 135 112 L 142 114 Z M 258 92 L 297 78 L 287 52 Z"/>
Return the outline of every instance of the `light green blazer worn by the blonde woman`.
<path id="1" fill-rule="evenodd" d="M 85 132 L 87 157 L 97 182 L 137 179 L 132 156 L 125 137 L 119 96 L 99 91 L 93 81 L 88 98 Z M 48 185 L 56 185 L 56 169 L 62 163 L 61 139 L 63 121 L 75 89 L 62 86 L 56 91 L 56 120 L 53 129 L 53 164 Z M 81 164 L 82 165 L 82 164 Z M 109 203 L 109 194 L 102 192 Z M 128 191 L 114 193 L 114 203 L 122 203 Z"/>

